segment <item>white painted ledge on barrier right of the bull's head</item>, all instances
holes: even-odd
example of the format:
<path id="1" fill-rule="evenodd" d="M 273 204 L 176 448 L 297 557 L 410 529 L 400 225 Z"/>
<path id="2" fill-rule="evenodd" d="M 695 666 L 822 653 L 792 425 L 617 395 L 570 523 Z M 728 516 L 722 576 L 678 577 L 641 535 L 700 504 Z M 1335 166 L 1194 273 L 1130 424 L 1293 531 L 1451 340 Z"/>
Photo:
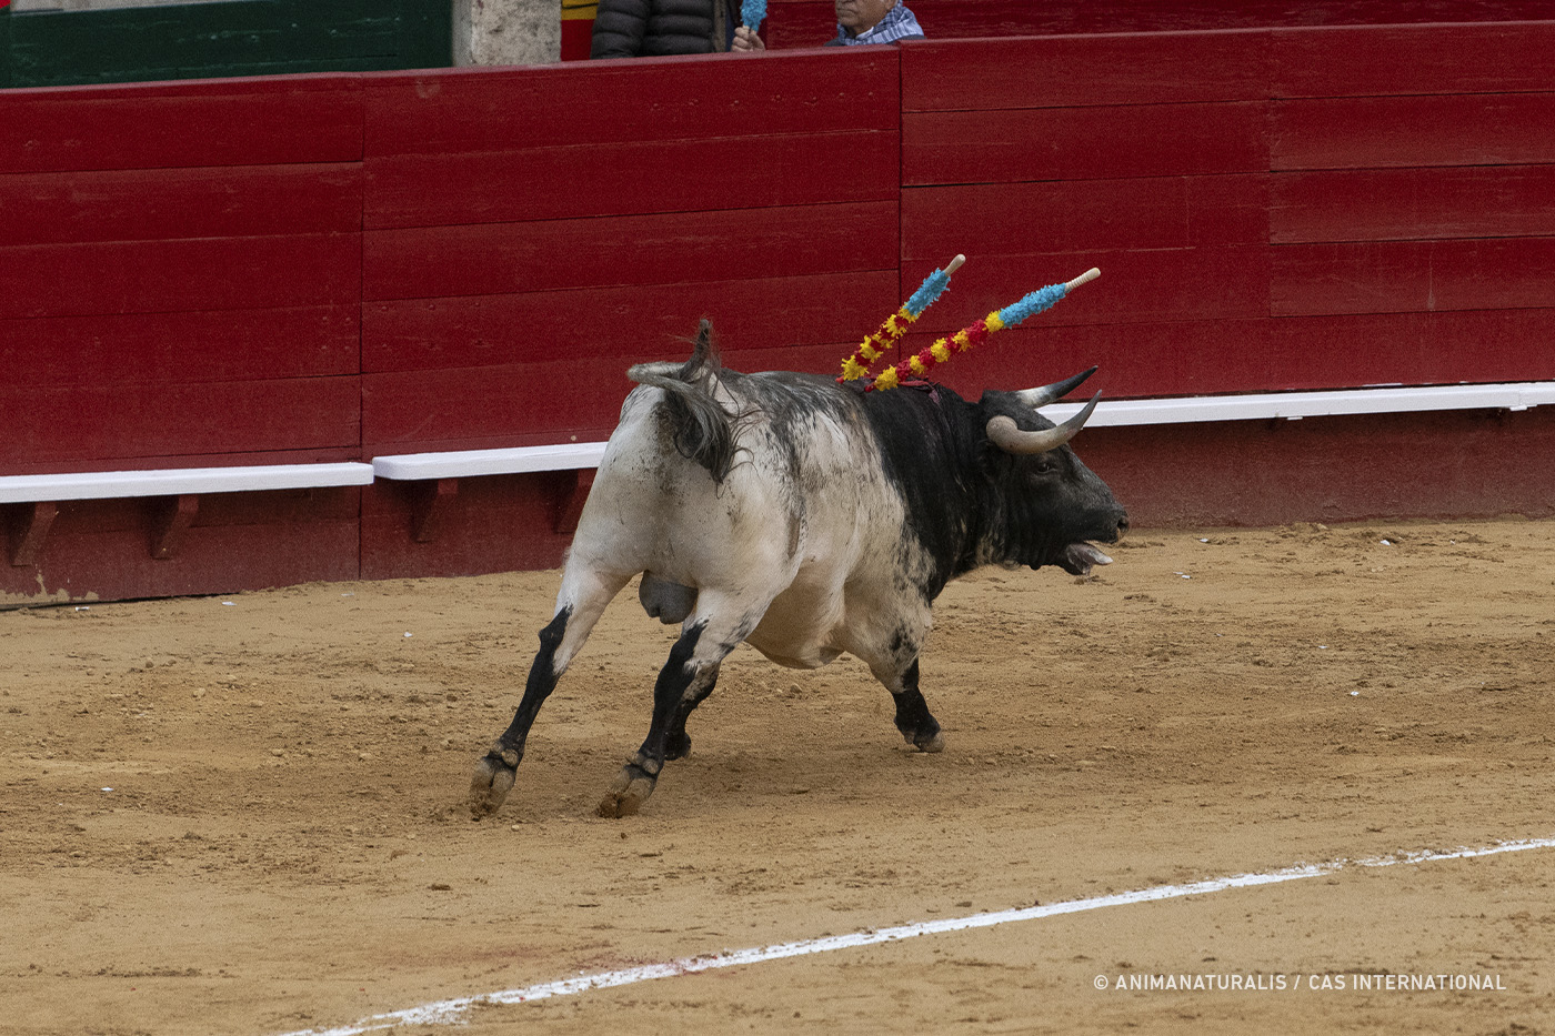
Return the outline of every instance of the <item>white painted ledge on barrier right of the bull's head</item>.
<path id="1" fill-rule="evenodd" d="M 1340 414 L 1409 414 L 1418 411 L 1525 411 L 1555 403 L 1555 381 L 1452 384 L 1423 389 L 1340 389 L 1330 392 L 1267 392 L 1263 395 L 1200 395 L 1180 400 L 1102 400 L 1085 428 L 1250 422 Z M 1042 415 L 1062 422 L 1081 403 L 1053 403 Z"/>

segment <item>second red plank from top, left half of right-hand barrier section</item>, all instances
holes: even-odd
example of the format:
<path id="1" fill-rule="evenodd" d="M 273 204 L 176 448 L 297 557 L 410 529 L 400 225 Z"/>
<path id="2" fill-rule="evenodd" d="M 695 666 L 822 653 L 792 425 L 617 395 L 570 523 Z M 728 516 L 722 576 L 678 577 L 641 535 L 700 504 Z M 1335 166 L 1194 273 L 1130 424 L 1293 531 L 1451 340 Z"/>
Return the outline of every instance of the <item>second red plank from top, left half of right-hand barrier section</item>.
<path id="1" fill-rule="evenodd" d="M 1263 103 L 1138 104 L 902 117 L 902 184 L 1263 173 Z"/>

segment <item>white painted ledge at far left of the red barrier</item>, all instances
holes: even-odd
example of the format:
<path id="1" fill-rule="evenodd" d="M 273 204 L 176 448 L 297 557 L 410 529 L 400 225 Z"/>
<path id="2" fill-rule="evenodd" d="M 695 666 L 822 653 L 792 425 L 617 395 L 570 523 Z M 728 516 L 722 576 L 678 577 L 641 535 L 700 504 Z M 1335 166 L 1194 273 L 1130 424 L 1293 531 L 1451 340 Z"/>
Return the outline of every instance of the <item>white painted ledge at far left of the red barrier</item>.
<path id="1" fill-rule="evenodd" d="M 372 481 L 373 465 L 356 462 L 6 474 L 0 476 L 0 504 L 112 499 L 118 496 L 182 496 L 187 493 L 252 493 L 325 485 L 369 485 Z"/>

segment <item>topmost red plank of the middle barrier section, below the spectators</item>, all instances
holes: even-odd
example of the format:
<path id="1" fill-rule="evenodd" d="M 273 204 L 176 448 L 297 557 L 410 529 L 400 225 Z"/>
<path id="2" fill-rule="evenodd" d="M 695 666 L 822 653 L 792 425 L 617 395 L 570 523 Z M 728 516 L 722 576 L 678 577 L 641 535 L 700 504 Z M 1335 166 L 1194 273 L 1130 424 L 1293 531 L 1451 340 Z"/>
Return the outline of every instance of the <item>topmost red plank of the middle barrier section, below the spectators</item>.
<path id="1" fill-rule="evenodd" d="M 566 98 L 566 103 L 558 103 Z M 750 132 L 896 129 L 897 51 L 703 54 L 367 81 L 367 152 L 504 151 Z"/>

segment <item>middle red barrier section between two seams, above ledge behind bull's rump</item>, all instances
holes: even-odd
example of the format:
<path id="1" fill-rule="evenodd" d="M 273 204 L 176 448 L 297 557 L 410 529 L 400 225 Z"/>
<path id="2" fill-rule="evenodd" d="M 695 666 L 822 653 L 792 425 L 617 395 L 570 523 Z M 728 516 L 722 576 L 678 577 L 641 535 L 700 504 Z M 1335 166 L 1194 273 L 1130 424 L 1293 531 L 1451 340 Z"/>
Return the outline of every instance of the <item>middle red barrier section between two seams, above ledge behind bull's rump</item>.
<path id="1" fill-rule="evenodd" d="M 704 314 L 841 355 L 838 297 L 899 305 L 899 112 L 880 50 L 372 81 L 364 450 L 603 439 Z"/>

